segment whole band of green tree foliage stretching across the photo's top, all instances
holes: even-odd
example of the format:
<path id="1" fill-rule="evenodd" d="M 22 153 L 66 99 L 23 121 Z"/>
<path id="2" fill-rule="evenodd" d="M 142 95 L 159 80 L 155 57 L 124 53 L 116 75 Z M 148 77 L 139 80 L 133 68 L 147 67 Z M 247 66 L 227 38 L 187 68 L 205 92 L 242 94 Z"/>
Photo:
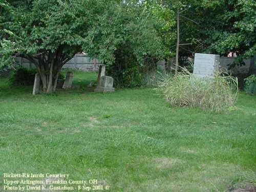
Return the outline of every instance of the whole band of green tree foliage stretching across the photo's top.
<path id="1" fill-rule="evenodd" d="M 195 52 L 236 52 L 236 64 L 255 53 L 253 0 L 0 3 L 0 65 L 10 65 L 11 56 L 29 59 L 37 66 L 45 91 L 54 90 L 51 79 L 81 51 L 102 60 L 120 87 L 138 85 L 143 68 L 155 65 L 145 58 L 157 61 L 174 56 L 177 11 L 180 59 Z"/>

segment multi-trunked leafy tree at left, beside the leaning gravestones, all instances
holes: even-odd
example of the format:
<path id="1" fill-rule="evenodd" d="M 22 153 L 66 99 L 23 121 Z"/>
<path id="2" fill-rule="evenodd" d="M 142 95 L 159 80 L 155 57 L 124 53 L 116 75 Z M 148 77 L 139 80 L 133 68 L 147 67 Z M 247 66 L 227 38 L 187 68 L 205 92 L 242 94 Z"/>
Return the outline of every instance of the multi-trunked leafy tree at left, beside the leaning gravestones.
<path id="1" fill-rule="evenodd" d="M 10 62 L 11 56 L 33 62 L 45 93 L 56 89 L 61 67 L 81 51 L 78 31 L 88 29 L 73 23 L 74 15 L 63 10 L 59 1 L 51 0 L 9 1 L 3 10 L 2 63 Z"/>

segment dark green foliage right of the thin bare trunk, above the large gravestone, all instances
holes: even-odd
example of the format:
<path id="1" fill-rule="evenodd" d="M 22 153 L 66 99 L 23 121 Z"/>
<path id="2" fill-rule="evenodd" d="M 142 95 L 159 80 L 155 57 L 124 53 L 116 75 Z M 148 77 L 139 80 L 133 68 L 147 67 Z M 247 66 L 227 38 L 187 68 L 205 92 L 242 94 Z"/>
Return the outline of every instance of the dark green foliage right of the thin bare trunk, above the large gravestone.
<path id="1" fill-rule="evenodd" d="M 243 65 L 243 58 L 256 53 L 256 4 L 253 0 L 160 0 L 165 8 L 180 12 L 180 58 L 193 53 L 226 56 L 237 53 L 230 66 Z M 175 26 L 171 29 L 176 31 Z M 171 52 L 175 52 L 172 41 Z"/>

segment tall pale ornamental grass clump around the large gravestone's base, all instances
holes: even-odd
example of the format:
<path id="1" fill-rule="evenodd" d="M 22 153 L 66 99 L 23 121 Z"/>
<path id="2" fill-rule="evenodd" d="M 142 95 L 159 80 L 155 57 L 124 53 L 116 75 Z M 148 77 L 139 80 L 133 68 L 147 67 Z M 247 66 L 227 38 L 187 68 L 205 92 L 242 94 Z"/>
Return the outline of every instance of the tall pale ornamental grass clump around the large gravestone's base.
<path id="1" fill-rule="evenodd" d="M 238 80 L 220 72 L 214 77 L 202 78 L 182 69 L 181 73 L 162 79 L 157 90 L 171 106 L 199 106 L 203 110 L 221 111 L 237 100 Z"/>

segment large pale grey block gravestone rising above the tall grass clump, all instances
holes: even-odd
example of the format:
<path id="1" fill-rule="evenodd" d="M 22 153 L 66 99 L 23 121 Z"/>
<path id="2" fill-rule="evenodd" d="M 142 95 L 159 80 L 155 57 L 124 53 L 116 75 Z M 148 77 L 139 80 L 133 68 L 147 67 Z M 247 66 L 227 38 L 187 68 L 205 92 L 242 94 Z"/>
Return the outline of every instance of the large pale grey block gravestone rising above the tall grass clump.
<path id="1" fill-rule="evenodd" d="M 198 77 L 213 77 L 219 67 L 220 55 L 195 54 L 194 74 Z"/>

